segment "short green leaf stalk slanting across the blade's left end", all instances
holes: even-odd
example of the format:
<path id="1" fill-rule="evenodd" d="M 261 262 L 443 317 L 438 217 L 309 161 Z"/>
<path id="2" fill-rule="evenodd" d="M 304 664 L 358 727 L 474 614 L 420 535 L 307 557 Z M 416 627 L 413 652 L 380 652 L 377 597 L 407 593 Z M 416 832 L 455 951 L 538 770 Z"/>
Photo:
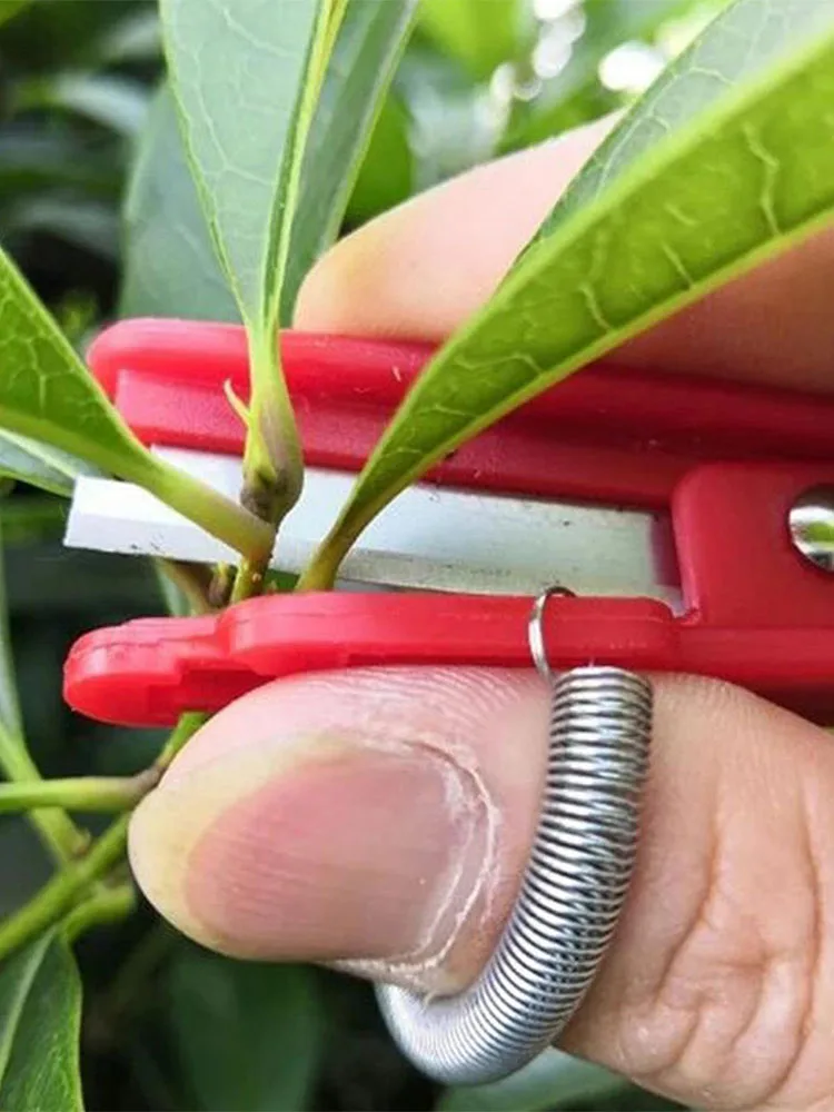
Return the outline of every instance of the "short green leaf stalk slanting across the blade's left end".
<path id="1" fill-rule="evenodd" d="M 205 483 L 156 457 L 152 466 L 145 461 L 135 481 L 235 552 L 251 560 L 269 562 L 275 539 L 272 529 Z"/>

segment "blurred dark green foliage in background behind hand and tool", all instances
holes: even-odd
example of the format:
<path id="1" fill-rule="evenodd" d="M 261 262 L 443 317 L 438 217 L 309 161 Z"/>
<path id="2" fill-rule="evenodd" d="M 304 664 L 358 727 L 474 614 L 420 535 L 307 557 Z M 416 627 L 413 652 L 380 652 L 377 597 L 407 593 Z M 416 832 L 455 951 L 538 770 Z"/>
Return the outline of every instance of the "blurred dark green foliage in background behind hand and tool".
<path id="1" fill-rule="evenodd" d="M 626 103 L 718 3 L 424 0 L 345 230 Z M 119 315 L 234 317 L 161 77 L 152 0 L 0 0 L 0 239 L 80 347 Z M 129 774 L 160 738 L 73 716 L 62 658 L 83 629 L 165 603 L 145 563 L 62 550 L 63 514 L 22 488 L 0 503 L 27 732 L 49 775 Z M 47 867 L 29 827 L 3 817 L 0 912 Z M 439 1092 L 394 1051 L 366 985 L 216 957 L 147 907 L 85 937 L 79 960 L 90 1109 L 675 1106 L 556 1052 L 503 1085 Z"/>

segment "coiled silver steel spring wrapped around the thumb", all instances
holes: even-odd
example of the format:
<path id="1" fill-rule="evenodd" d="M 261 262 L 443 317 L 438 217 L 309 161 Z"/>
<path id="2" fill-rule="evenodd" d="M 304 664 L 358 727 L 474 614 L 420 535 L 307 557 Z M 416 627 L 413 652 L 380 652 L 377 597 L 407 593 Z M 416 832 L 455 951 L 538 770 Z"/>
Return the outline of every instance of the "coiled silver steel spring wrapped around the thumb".
<path id="1" fill-rule="evenodd" d="M 547 775 L 520 894 L 465 992 L 377 989 L 400 1050 L 445 1084 L 496 1081 L 559 1034 L 605 954 L 632 877 L 648 772 L 652 687 L 618 668 L 555 679 Z"/>

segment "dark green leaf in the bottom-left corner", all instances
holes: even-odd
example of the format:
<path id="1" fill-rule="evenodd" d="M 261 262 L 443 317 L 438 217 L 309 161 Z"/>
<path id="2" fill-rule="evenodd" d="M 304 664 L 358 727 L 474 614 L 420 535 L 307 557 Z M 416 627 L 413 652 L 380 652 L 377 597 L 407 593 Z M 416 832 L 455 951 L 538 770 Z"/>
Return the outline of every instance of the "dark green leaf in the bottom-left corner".
<path id="1" fill-rule="evenodd" d="M 81 980 L 69 947 L 42 935 L 0 970 L 0 1108 L 82 1112 Z"/>

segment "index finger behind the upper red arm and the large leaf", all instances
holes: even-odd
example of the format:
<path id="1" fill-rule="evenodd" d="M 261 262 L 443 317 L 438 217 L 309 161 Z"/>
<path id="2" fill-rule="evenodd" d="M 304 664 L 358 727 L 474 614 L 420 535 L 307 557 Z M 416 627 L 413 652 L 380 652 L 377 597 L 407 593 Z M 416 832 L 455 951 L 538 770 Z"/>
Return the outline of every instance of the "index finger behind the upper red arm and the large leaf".
<path id="1" fill-rule="evenodd" d="M 441 341 L 493 292 L 610 127 L 598 121 L 423 193 L 314 268 L 296 326 Z M 625 344 L 617 363 L 834 390 L 834 228 Z"/>

